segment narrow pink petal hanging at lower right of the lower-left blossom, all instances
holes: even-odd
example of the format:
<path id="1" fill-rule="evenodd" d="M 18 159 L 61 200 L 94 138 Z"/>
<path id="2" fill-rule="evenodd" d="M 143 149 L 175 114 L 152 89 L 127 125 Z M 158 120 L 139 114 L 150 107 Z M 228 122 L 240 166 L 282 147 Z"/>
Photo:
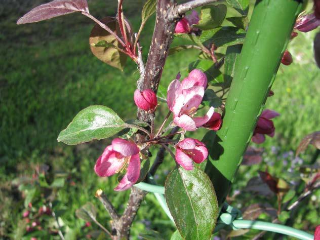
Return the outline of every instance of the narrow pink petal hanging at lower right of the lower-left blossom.
<path id="1" fill-rule="evenodd" d="M 134 185 L 140 176 L 140 158 L 139 154 L 131 156 L 128 171 L 121 179 L 119 184 L 114 188 L 115 191 L 123 191 Z"/>

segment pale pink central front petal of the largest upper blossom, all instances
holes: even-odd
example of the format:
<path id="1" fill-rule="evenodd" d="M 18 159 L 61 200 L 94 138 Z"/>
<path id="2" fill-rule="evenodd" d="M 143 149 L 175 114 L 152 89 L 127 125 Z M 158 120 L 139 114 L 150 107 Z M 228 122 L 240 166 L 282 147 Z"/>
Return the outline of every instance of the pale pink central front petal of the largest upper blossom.
<path id="1" fill-rule="evenodd" d="M 205 94 L 205 89 L 202 86 L 194 86 L 189 89 L 182 90 L 184 96 L 184 104 L 180 114 L 190 115 L 194 113 L 202 102 Z"/>

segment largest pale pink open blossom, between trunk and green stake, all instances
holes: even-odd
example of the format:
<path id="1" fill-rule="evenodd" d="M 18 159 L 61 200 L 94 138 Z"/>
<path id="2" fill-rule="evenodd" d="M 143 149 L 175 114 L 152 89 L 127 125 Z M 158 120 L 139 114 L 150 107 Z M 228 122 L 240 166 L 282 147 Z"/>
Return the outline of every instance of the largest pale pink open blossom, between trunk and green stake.
<path id="1" fill-rule="evenodd" d="M 202 127 L 212 117 L 214 108 L 211 107 L 203 117 L 193 117 L 205 94 L 207 76 L 198 69 L 192 70 L 188 77 L 180 83 L 172 81 L 168 87 L 167 103 L 173 112 L 173 122 L 186 131 L 195 131 Z"/>

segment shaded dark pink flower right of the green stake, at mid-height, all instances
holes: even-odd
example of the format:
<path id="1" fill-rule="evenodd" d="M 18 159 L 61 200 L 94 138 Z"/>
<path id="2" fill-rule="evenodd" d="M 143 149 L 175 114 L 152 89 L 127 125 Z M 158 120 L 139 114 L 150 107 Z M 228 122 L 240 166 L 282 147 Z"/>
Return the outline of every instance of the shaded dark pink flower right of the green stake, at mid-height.
<path id="1" fill-rule="evenodd" d="M 279 115 L 280 114 L 275 111 L 269 109 L 264 110 L 259 116 L 257 126 L 253 133 L 252 141 L 259 144 L 265 141 L 264 135 L 273 137 L 275 128 L 270 119 Z"/>

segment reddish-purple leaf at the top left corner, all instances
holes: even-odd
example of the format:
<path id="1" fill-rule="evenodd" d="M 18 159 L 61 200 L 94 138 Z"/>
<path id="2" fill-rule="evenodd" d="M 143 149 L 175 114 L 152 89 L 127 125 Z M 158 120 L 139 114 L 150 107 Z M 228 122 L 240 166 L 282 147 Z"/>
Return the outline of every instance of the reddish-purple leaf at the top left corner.
<path id="1" fill-rule="evenodd" d="M 87 0 L 54 0 L 32 9 L 19 18 L 17 24 L 39 22 L 74 12 L 89 13 Z"/>

